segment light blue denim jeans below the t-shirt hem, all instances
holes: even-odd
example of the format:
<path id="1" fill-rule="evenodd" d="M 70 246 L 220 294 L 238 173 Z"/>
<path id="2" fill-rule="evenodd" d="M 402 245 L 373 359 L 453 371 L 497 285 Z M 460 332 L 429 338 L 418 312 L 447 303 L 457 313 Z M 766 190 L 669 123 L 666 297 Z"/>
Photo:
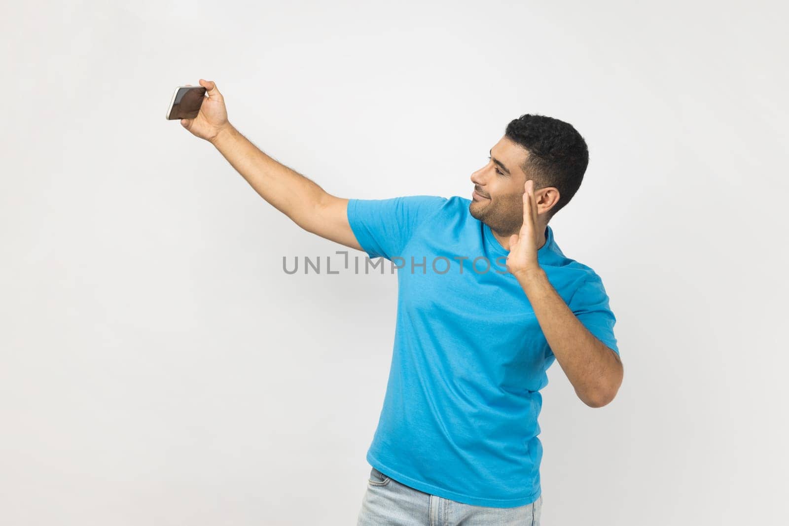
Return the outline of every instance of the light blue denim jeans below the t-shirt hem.
<path id="1" fill-rule="evenodd" d="M 542 495 L 531 504 L 488 508 L 452 501 L 370 471 L 357 526 L 540 526 Z"/>

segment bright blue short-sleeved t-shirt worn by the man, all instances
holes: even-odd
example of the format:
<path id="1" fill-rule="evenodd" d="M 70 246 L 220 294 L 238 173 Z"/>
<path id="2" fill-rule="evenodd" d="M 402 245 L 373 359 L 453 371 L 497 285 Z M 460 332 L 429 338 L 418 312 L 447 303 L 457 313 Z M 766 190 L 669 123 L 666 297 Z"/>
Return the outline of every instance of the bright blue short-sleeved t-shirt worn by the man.
<path id="1" fill-rule="evenodd" d="M 540 496 L 537 416 L 555 360 L 509 253 L 459 196 L 349 200 L 368 256 L 398 267 L 397 325 L 367 461 L 406 486 L 509 508 Z M 569 259 L 547 226 L 537 252 L 559 296 L 616 353 L 600 277 Z M 487 271 L 486 271 L 487 270 Z"/>

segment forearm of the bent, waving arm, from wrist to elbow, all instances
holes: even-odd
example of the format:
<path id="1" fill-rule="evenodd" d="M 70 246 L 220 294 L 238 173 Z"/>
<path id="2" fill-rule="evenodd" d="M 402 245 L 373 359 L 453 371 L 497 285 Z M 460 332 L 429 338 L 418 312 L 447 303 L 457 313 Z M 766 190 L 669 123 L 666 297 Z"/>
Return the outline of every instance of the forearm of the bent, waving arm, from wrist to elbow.
<path id="1" fill-rule="evenodd" d="M 556 361 L 586 405 L 600 407 L 611 401 L 622 383 L 619 356 L 598 340 L 553 288 L 544 270 L 518 274 L 537 322 Z"/>

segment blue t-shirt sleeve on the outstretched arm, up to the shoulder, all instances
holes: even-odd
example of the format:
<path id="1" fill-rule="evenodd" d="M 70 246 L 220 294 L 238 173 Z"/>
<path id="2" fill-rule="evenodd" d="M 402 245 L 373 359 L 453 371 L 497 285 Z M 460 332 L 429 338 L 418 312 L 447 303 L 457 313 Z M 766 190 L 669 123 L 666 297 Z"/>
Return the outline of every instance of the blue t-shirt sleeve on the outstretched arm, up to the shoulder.
<path id="1" fill-rule="evenodd" d="M 402 196 L 348 200 L 348 223 L 361 248 L 372 258 L 400 256 L 418 226 L 438 211 L 447 198 Z"/>

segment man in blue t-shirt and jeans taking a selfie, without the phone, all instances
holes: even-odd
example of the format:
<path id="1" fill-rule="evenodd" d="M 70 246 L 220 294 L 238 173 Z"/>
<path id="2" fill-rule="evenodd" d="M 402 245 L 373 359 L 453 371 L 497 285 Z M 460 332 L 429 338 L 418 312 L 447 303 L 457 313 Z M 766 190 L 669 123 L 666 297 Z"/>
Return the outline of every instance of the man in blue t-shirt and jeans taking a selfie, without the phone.
<path id="1" fill-rule="evenodd" d="M 600 277 L 548 226 L 589 160 L 569 124 L 511 121 L 471 199 L 341 199 L 271 159 L 227 120 L 215 83 L 181 121 L 298 226 L 398 261 L 394 355 L 367 453 L 359 524 L 538 524 L 537 416 L 557 360 L 581 401 L 608 404 L 623 367 Z"/>

